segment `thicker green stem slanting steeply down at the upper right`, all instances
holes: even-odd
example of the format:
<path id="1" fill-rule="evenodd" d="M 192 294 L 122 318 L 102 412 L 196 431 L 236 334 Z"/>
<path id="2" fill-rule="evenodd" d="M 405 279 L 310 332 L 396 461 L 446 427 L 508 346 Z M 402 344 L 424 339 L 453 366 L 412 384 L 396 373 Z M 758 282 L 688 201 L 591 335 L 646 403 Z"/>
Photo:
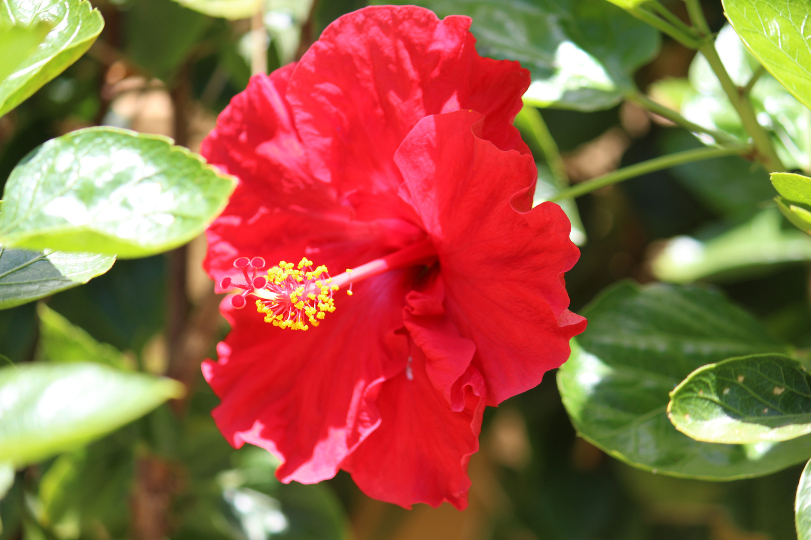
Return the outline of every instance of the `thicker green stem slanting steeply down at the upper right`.
<path id="1" fill-rule="evenodd" d="M 721 57 L 719 57 L 718 51 L 715 50 L 714 43 L 705 41 L 698 50 L 704 55 L 715 76 L 718 77 L 723 91 L 727 94 L 727 98 L 729 98 L 740 117 L 741 123 L 744 125 L 744 130 L 752 137 L 757 149 L 757 159 L 768 169 L 768 172 L 785 171 L 786 168 L 783 162 L 780 161 L 775 148 L 771 144 L 769 134 L 757 122 L 757 115 L 752 107 L 752 102 L 749 101 L 749 98 L 740 95 L 738 87 L 732 82 L 732 78 L 723 66 Z"/>

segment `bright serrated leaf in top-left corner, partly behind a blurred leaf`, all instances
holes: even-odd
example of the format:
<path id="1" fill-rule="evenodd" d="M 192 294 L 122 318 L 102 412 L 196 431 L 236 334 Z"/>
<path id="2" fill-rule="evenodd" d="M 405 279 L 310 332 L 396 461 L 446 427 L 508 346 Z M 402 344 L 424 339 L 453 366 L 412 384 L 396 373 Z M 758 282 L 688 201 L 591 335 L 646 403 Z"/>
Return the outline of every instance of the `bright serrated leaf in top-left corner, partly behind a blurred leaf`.
<path id="1" fill-rule="evenodd" d="M 0 117 L 79 59 L 104 28 L 104 19 L 87 0 L 3 0 L 0 26 L 53 28 L 45 40 L 0 80 Z"/>

